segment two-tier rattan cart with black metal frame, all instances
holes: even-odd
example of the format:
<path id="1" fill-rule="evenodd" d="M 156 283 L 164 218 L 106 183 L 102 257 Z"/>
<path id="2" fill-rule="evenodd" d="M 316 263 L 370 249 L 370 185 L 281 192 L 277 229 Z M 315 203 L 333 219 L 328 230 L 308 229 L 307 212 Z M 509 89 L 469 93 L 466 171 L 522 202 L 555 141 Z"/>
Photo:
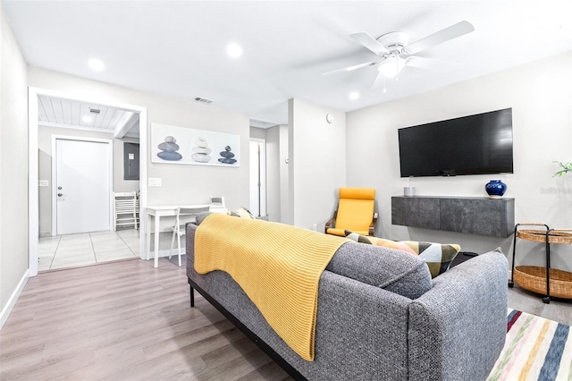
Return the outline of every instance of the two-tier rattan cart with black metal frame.
<path id="1" fill-rule="evenodd" d="M 541 229 L 520 229 L 519 226 L 544 226 Z M 572 299 L 572 273 L 551 268 L 551 243 L 572 244 L 572 229 L 551 229 L 547 224 L 516 224 L 514 246 L 512 249 L 512 279 L 509 287 L 516 282 L 525 290 L 545 295 L 544 303 L 551 302 L 551 296 Z M 517 238 L 526 241 L 541 242 L 546 245 L 546 267 L 517 266 Z"/>

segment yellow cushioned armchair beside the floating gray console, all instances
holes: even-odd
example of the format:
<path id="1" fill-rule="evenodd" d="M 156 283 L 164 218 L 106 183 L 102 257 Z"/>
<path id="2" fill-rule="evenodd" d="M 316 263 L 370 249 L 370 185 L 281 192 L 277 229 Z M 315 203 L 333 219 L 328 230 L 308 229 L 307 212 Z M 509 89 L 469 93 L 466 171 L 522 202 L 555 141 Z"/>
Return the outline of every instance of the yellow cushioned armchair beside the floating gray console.
<path id="1" fill-rule="evenodd" d="M 344 230 L 374 235 L 377 213 L 374 212 L 374 188 L 340 188 L 340 203 L 325 224 L 325 233 L 345 236 Z"/>

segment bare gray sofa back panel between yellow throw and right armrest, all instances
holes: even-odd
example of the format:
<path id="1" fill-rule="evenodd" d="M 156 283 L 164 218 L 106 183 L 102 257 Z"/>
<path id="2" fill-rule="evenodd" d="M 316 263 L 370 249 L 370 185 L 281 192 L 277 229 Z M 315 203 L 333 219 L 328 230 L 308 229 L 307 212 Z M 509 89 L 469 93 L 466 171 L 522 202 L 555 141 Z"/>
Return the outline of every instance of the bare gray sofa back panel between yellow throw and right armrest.
<path id="1" fill-rule="evenodd" d="M 324 271 L 315 330 L 317 367 L 308 367 L 307 378 L 407 379 L 409 303 L 394 292 Z"/>

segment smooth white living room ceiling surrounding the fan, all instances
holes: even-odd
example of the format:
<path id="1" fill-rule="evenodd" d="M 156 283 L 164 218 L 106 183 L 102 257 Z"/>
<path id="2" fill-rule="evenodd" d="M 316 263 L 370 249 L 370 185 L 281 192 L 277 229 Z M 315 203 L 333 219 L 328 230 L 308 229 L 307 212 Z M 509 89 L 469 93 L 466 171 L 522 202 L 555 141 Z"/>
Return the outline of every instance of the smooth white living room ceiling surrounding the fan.
<path id="1" fill-rule="evenodd" d="M 31 66 L 172 97 L 205 97 L 251 123 L 288 123 L 288 99 L 352 111 L 572 50 L 566 1 L 14 1 L 3 0 Z M 475 31 L 418 55 L 450 72 L 406 67 L 372 89 L 376 56 L 349 34 L 410 41 L 458 21 Z M 231 58 L 229 43 L 243 53 Z M 103 72 L 88 68 L 104 61 Z M 357 99 L 349 99 L 356 91 Z"/>

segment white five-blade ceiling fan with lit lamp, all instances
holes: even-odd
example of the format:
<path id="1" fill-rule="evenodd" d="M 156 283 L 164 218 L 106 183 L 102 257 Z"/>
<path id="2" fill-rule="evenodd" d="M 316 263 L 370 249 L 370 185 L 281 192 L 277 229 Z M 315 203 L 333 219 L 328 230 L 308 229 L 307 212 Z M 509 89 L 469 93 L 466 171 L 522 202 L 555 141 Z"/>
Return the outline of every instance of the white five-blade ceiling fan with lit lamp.
<path id="1" fill-rule="evenodd" d="M 399 31 L 386 33 L 377 39 L 365 31 L 352 33 L 349 35 L 350 38 L 353 38 L 357 43 L 374 52 L 375 55 L 378 55 L 378 58 L 375 61 L 359 63 L 332 72 L 324 72 L 323 75 L 351 72 L 363 67 L 378 65 L 378 74 L 373 86 L 375 89 L 386 78 L 397 76 L 405 66 L 438 72 L 448 71 L 451 65 L 455 63 L 420 57 L 415 54 L 428 47 L 433 47 L 450 39 L 463 36 L 473 30 L 475 30 L 475 27 L 473 27 L 470 22 L 460 21 L 444 30 L 439 30 L 432 35 L 418 39 L 411 44 L 408 43 L 408 34 Z"/>

